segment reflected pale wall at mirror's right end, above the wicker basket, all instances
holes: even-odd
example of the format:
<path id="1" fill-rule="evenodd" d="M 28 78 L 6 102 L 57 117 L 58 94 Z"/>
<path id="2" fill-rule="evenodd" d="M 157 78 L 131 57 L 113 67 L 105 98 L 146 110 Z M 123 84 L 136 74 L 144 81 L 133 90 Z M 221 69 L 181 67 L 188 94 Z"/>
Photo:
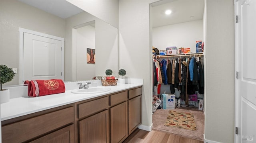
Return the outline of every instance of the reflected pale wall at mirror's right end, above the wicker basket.
<path id="1" fill-rule="evenodd" d="M 96 20 L 96 76 L 105 76 L 111 69 L 118 76 L 118 29 L 102 20 Z"/>

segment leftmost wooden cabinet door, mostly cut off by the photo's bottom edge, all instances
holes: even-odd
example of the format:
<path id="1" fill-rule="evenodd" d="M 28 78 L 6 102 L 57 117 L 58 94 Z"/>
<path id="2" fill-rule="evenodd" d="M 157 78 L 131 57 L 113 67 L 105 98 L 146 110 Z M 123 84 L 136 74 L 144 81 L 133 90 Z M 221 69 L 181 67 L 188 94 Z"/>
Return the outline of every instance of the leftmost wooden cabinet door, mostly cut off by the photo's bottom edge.
<path id="1" fill-rule="evenodd" d="M 74 125 L 69 125 L 29 143 L 74 143 Z"/>

